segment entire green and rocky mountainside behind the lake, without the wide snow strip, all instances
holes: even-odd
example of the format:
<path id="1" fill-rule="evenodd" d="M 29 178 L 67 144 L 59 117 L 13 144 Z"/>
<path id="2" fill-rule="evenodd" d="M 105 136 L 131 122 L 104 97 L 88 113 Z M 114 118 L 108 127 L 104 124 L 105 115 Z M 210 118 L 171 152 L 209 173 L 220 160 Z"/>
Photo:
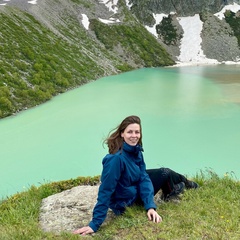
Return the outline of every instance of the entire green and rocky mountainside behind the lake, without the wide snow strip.
<path id="1" fill-rule="evenodd" d="M 0 0 L 0 118 L 103 76 L 174 65 L 181 17 L 199 15 L 207 58 L 238 61 L 239 11 L 214 15 L 233 3 L 240 1 Z"/>

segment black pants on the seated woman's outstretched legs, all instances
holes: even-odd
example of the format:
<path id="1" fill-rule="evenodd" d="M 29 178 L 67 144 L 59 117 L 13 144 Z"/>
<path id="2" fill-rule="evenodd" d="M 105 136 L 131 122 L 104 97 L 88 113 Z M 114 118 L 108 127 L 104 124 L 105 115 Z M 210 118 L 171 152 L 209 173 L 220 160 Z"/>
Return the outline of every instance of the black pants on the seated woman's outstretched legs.
<path id="1" fill-rule="evenodd" d="M 169 168 L 147 169 L 147 173 L 152 181 L 154 195 L 161 189 L 167 195 L 173 190 L 173 186 L 180 182 L 187 184 L 187 178 L 174 172 Z"/>

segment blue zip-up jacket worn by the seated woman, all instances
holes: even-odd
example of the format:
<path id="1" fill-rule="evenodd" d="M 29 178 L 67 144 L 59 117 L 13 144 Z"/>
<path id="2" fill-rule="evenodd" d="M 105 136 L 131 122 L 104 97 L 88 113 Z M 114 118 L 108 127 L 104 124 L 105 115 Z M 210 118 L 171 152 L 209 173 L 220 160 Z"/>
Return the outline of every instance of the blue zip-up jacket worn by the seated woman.
<path id="1" fill-rule="evenodd" d="M 104 157 L 97 204 L 89 223 L 94 232 L 105 220 L 108 208 L 119 215 L 136 199 L 141 199 L 146 210 L 156 209 L 153 185 L 146 173 L 142 151 L 140 145 L 124 143 L 122 150 Z"/>

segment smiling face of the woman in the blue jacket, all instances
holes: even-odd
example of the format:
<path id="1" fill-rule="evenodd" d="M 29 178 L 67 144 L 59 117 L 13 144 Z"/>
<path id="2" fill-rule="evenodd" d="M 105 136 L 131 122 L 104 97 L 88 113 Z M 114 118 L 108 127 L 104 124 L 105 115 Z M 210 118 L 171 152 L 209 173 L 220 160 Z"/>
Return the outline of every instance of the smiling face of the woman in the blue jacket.
<path id="1" fill-rule="evenodd" d="M 121 137 L 123 137 L 124 141 L 127 144 L 136 146 L 141 137 L 140 125 L 137 123 L 129 124 L 125 128 L 124 132 L 121 133 Z"/>

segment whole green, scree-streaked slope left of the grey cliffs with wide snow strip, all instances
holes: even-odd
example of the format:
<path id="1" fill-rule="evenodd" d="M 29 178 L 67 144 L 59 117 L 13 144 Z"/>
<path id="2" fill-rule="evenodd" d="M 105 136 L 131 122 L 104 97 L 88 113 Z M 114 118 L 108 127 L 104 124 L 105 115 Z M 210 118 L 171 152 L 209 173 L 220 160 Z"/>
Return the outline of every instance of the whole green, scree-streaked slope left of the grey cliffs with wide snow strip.
<path id="1" fill-rule="evenodd" d="M 172 65 L 156 39 L 119 5 L 124 23 L 108 26 L 92 18 L 91 34 L 79 19 L 82 8 L 92 15 L 96 10 L 86 1 L 39 6 L 44 24 L 16 7 L 1 8 L 0 118 L 102 76 Z"/>

